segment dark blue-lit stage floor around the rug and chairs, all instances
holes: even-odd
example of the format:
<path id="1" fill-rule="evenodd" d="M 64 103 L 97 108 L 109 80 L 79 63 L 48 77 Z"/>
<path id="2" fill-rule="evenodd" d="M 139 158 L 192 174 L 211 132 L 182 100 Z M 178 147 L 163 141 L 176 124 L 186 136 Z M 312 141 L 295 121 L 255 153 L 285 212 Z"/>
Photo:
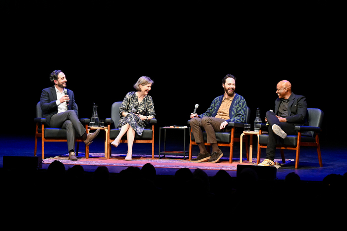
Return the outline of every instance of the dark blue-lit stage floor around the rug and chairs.
<path id="1" fill-rule="evenodd" d="M 90 146 L 90 152 L 104 152 L 103 135 L 99 136 Z M 41 140 L 40 140 L 41 141 Z M 169 144 L 169 142 L 171 144 Z M 172 145 L 170 147 L 170 145 Z M 39 143 L 38 155 L 41 156 L 41 146 Z M 187 144 L 188 146 L 188 144 Z M 45 157 L 54 157 L 66 153 L 67 145 L 64 142 L 46 142 L 45 143 Z M 162 143 L 163 148 L 163 143 Z M 178 150 L 182 148 L 182 143 L 175 143 L 172 140 L 167 140 L 167 150 Z M 186 147 L 188 149 L 188 147 Z M 244 148 L 243 148 L 244 149 Z M 150 153 L 150 144 L 134 144 L 134 153 Z M 163 150 L 163 149 L 162 149 Z M 224 151 L 225 150 L 225 151 Z M 81 152 L 84 152 L 84 146 L 81 145 Z M 117 149 L 117 153 L 126 154 L 126 144 L 121 144 Z M 158 155 L 159 145 L 156 142 L 155 155 Z M 229 153 L 229 148 L 223 148 L 224 153 Z M 287 174 L 295 172 L 300 176 L 303 181 L 322 181 L 324 177 L 329 174 L 343 175 L 347 172 L 347 156 L 346 148 L 344 146 L 338 147 L 333 144 L 321 144 L 323 167 L 319 167 L 318 157 L 315 148 L 303 147 L 300 152 L 299 168 L 294 168 L 294 161 L 285 167 L 277 169 L 277 178 L 284 180 Z M 195 154 L 197 149 L 194 149 Z M 239 146 L 234 147 L 234 157 L 238 156 Z M 295 159 L 294 151 L 286 151 L 286 159 Z M 33 156 L 34 155 L 34 136 L 1 136 L 0 137 L 0 167 L 3 167 L 2 156 Z M 245 154 L 243 154 L 245 156 Z M 265 150 L 262 152 L 262 158 L 265 157 Z M 256 151 L 253 150 L 253 158 L 256 158 Z M 276 158 L 280 158 L 278 153 Z M 87 172 L 94 172 L 98 166 L 83 166 Z M 43 169 L 47 169 L 48 164 L 43 164 Z M 68 168 L 68 167 L 66 167 Z M 110 173 L 119 173 L 125 167 L 108 167 Z M 175 173 L 175 169 L 170 168 L 157 168 L 157 175 L 171 175 Z M 217 171 L 206 170 L 208 176 L 214 176 Z M 231 177 L 236 177 L 236 171 L 228 171 Z"/>

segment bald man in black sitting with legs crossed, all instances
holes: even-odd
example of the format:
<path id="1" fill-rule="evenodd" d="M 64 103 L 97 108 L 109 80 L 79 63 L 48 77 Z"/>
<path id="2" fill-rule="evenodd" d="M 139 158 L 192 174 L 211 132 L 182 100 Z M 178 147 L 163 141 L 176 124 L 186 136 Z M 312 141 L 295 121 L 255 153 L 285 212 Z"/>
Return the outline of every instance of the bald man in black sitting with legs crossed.
<path id="1" fill-rule="evenodd" d="M 275 165 L 277 142 L 283 142 L 287 135 L 297 135 L 295 126 L 306 124 L 307 103 L 305 96 L 291 92 L 291 84 L 283 80 L 277 84 L 275 111 L 266 113 L 265 121 L 269 123 L 269 140 L 265 160 L 260 166 Z"/>

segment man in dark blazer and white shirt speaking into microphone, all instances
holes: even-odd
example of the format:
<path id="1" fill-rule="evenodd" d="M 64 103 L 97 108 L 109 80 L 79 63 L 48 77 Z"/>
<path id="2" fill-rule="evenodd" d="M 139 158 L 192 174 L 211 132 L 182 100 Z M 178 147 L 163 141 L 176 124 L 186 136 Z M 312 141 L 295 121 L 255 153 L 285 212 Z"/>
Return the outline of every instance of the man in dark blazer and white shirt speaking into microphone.
<path id="1" fill-rule="evenodd" d="M 66 129 L 67 147 L 70 160 L 77 160 L 74 151 L 76 137 L 81 137 L 86 145 L 99 134 L 100 129 L 94 133 L 87 133 L 78 119 L 75 96 L 71 90 L 66 89 L 66 77 L 60 70 L 55 70 L 50 75 L 54 86 L 42 90 L 40 105 L 51 128 Z M 64 93 L 66 90 L 66 94 Z"/>

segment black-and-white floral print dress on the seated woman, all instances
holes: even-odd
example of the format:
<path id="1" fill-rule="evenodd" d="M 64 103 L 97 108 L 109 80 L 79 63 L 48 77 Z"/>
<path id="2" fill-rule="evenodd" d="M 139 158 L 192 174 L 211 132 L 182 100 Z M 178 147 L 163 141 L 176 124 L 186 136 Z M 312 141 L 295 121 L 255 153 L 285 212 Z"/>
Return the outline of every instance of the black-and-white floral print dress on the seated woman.
<path id="1" fill-rule="evenodd" d="M 139 102 L 136 92 L 129 92 L 125 95 L 123 102 L 119 107 L 120 119 L 118 122 L 118 128 L 120 129 L 125 124 L 129 124 L 137 135 L 142 136 L 143 130 L 145 129 L 148 122 L 141 120 L 137 115 L 132 113 L 133 108 L 137 114 L 144 116 L 155 117 L 153 99 L 150 95 L 146 95 L 141 102 Z M 122 116 L 122 112 L 127 112 L 125 117 Z"/>

